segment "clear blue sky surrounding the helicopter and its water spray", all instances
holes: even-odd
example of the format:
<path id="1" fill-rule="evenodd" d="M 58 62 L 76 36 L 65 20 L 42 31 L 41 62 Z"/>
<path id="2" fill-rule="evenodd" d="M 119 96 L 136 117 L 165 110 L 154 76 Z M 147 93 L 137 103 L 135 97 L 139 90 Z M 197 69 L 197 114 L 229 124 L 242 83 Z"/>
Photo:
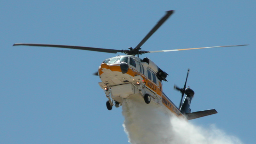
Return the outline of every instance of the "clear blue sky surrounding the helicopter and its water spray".
<path id="1" fill-rule="evenodd" d="M 179 105 L 185 82 L 192 111 L 218 114 L 190 122 L 215 124 L 244 143 L 255 141 L 255 1 L 1 1 L 0 143 L 128 143 L 122 108 L 106 108 L 92 76 L 116 54 L 17 46 L 63 44 L 135 47 L 167 10 L 175 13 L 141 47 L 146 51 L 250 44 L 244 47 L 149 53 L 169 74 L 163 91 Z M 119 53 L 121 54 L 121 53 Z"/>

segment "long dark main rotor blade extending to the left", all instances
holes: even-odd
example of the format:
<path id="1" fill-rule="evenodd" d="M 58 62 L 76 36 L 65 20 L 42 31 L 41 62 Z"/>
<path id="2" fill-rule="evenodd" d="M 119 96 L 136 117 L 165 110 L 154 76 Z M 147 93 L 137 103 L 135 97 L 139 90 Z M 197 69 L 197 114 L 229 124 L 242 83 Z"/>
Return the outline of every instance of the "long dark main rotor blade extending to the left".
<path id="1" fill-rule="evenodd" d="M 122 50 L 102 49 L 102 48 L 84 47 L 84 46 L 71 46 L 71 45 L 56 45 L 56 44 L 24 44 L 24 43 L 16 43 L 16 44 L 13 44 L 12 46 L 16 46 L 16 45 L 59 47 L 59 48 L 78 49 L 78 50 L 87 50 L 87 51 L 96 51 L 96 52 L 108 52 L 108 53 L 123 52 Z"/>

